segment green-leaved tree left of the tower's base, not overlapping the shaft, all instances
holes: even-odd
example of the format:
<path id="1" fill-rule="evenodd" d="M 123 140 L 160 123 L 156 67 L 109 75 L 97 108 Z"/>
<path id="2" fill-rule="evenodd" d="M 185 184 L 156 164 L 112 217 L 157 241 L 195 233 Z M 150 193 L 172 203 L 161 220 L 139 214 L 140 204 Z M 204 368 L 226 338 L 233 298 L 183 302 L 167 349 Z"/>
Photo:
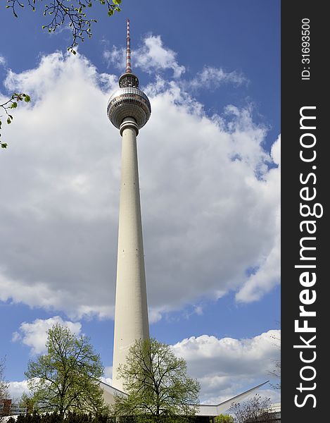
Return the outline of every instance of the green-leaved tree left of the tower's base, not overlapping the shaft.
<path id="1" fill-rule="evenodd" d="M 105 410 L 99 378 L 103 374 L 99 354 L 89 338 L 77 338 L 70 329 L 55 324 L 48 331 L 47 353 L 30 360 L 27 385 L 40 411 L 53 411 L 61 419 L 70 411 Z"/>

